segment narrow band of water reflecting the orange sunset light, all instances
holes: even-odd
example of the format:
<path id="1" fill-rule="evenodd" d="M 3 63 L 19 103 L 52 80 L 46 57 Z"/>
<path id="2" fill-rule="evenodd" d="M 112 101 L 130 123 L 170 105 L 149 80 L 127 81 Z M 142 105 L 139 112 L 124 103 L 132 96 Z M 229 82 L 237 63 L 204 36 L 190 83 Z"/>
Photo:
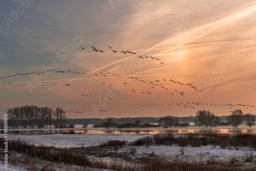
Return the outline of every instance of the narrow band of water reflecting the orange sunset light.
<path id="1" fill-rule="evenodd" d="M 75 129 L 75 134 L 126 134 L 126 135 L 155 135 L 155 134 L 170 134 L 170 135 L 183 135 L 183 134 L 219 134 L 219 135 L 241 135 L 252 134 L 256 135 L 255 129 Z M 12 131 L 11 133 L 14 133 Z M 70 129 L 62 130 L 20 130 L 19 134 L 63 134 L 70 133 Z"/>

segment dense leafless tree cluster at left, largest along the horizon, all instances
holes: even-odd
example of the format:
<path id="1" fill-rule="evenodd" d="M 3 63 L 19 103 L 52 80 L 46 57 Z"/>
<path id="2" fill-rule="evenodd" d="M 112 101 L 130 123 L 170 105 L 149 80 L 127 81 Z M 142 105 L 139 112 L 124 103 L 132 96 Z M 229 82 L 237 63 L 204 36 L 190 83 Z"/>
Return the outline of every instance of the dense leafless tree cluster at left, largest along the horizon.
<path id="1" fill-rule="evenodd" d="M 15 128 L 51 127 L 55 121 L 58 126 L 65 120 L 65 111 L 56 108 L 55 111 L 49 107 L 39 108 L 37 105 L 25 105 L 8 109 L 9 125 Z"/>

